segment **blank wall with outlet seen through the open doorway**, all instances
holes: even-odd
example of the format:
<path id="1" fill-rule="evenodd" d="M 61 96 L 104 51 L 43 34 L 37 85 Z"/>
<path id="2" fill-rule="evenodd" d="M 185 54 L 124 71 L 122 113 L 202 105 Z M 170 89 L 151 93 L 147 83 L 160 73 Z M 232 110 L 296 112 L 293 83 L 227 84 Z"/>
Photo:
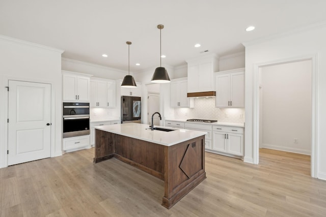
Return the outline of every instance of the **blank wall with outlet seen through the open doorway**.
<path id="1" fill-rule="evenodd" d="M 311 64 L 306 60 L 261 68 L 261 147 L 311 153 Z"/>

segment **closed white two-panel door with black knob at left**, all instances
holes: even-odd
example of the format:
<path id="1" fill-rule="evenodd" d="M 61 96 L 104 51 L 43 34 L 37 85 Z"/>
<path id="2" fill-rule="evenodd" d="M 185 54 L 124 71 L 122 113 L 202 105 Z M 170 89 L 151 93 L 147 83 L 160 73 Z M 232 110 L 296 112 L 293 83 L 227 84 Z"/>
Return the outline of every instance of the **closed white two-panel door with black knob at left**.
<path id="1" fill-rule="evenodd" d="M 51 85 L 9 80 L 8 166 L 49 158 Z"/>

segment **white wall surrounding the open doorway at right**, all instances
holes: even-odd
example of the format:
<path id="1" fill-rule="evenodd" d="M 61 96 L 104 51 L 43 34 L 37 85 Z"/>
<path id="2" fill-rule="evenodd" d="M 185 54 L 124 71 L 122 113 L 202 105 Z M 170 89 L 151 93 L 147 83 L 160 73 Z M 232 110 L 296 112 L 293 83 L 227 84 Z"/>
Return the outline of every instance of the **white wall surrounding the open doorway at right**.
<path id="1" fill-rule="evenodd" d="M 254 121 L 258 119 L 254 116 L 254 107 L 256 100 L 254 99 L 254 86 L 258 74 L 258 66 L 264 64 L 284 62 L 291 59 L 305 59 L 311 56 L 317 56 L 316 65 L 313 67 L 317 76 L 317 117 L 318 122 L 312 127 L 316 128 L 317 143 L 317 177 L 326 179 L 326 46 L 324 46 L 326 38 L 326 26 L 312 26 L 311 28 L 297 30 L 295 33 L 288 33 L 282 36 L 273 37 L 269 40 L 259 40 L 256 42 L 244 43 L 246 46 L 246 132 L 245 132 L 245 156 L 246 162 L 254 162 L 254 135 L 257 129 L 254 129 Z M 314 71 L 313 71 L 314 72 Z M 314 99 L 312 99 L 314 102 Z M 314 121 L 314 120 L 313 120 Z M 255 141 L 257 142 L 257 141 Z"/>

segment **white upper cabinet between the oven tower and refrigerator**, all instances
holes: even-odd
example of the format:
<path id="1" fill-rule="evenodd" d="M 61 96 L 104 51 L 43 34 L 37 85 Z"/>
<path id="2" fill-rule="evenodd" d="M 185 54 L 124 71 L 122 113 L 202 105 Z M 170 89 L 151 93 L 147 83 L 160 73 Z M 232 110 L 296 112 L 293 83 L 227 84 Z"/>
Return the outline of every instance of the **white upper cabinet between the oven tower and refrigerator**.
<path id="1" fill-rule="evenodd" d="M 91 79 L 91 107 L 116 107 L 116 82 L 101 78 Z"/>

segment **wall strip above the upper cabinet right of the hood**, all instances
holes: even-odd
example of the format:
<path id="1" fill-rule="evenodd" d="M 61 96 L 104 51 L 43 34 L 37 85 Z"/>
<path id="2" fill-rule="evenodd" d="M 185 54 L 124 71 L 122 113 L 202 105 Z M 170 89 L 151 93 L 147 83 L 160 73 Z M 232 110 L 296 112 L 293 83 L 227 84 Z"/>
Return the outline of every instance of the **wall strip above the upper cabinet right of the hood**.
<path id="1" fill-rule="evenodd" d="M 221 56 L 219 71 L 244 68 L 244 52 Z"/>

